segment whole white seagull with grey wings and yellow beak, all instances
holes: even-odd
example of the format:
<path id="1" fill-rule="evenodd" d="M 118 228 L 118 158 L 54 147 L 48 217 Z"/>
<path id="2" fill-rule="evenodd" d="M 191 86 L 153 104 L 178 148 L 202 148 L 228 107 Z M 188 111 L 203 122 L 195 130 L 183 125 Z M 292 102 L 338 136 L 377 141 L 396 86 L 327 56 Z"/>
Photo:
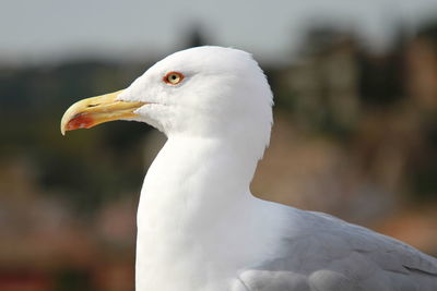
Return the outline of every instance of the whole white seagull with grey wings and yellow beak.
<path id="1" fill-rule="evenodd" d="M 273 95 L 251 54 L 196 47 L 128 88 L 80 100 L 61 132 L 145 122 L 167 142 L 138 207 L 137 291 L 432 291 L 437 259 L 249 189 L 269 144 Z"/>

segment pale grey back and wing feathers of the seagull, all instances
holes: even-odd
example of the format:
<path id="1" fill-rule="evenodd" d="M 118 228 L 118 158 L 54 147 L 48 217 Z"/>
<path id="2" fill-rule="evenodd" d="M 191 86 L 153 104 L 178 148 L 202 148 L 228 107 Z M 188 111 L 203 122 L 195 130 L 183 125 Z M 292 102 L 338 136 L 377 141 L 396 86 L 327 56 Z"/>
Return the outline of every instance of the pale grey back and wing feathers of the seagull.
<path id="1" fill-rule="evenodd" d="M 436 258 L 368 229 L 311 215 L 320 221 L 284 239 L 282 257 L 239 274 L 241 290 L 437 290 Z"/>

